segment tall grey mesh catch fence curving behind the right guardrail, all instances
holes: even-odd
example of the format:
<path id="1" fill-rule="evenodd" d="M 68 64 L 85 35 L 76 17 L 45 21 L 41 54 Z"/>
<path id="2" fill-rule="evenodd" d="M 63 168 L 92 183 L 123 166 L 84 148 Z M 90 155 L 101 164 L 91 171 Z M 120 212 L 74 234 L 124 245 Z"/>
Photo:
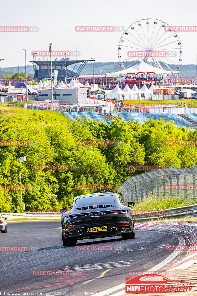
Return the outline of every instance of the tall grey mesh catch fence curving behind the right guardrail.
<path id="1" fill-rule="evenodd" d="M 197 202 L 197 166 L 152 170 L 128 178 L 118 189 L 123 202 L 142 201 L 144 197 L 177 197 Z"/>

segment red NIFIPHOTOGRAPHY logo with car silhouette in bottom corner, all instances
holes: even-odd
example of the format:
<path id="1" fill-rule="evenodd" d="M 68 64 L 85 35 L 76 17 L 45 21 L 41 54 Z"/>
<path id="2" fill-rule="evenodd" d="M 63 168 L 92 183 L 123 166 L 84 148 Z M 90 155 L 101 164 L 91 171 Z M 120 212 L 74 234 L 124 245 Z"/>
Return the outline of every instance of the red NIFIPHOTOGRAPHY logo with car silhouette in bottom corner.
<path id="1" fill-rule="evenodd" d="M 192 284 L 187 281 L 172 281 L 165 276 L 149 274 L 149 276 L 157 276 L 159 280 L 153 281 L 152 279 L 148 281 L 142 281 L 145 275 L 136 276 L 134 278 L 126 278 L 126 293 L 165 293 L 165 292 L 187 292 L 191 291 Z M 168 284 L 165 287 L 165 284 Z M 173 284 L 174 282 L 174 284 Z M 176 284 L 175 284 L 176 283 Z M 184 283 L 184 284 L 177 284 Z"/>

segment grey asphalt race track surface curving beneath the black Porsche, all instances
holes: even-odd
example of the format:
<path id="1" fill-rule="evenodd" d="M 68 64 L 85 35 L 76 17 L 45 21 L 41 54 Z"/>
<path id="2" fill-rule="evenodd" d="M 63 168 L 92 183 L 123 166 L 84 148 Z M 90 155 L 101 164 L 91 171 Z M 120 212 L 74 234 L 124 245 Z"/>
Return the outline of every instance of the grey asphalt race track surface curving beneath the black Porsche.
<path id="1" fill-rule="evenodd" d="M 0 233 L 0 245 L 27 246 L 29 251 L 0 252 L 0 292 L 94 295 L 122 284 L 128 271 L 149 270 L 161 263 L 172 254 L 164 250 L 166 244 L 178 245 L 179 239 L 181 244 L 188 244 L 185 238 L 162 231 L 135 232 L 136 238 L 130 240 L 114 237 L 77 243 L 77 246 L 113 246 L 114 250 L 77 251 L 76 247 L 63 247 L 60 221 L 8 222 L 8 232 Z M 174 259 L 166 260 L 159 269 L 166 270 L 184 255 L 185 252 L 176 252 Z M 32 276 L 35 270 L 64 270 L 69 275 Z"/>

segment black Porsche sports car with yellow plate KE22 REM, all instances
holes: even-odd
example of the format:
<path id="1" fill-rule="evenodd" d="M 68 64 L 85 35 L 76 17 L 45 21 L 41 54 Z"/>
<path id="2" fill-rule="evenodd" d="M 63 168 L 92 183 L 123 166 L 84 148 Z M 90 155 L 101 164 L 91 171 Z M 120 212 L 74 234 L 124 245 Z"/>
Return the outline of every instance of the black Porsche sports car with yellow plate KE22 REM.
<path id="1" fill-rule="evenodd" d="M 122 235 L 134 239 L 132 211 L 113 192 L 76 196 L 69 211 L 60 210 L 62 242 L 64 247 L 76 245 L 77 239 L 93 239 Z"/>

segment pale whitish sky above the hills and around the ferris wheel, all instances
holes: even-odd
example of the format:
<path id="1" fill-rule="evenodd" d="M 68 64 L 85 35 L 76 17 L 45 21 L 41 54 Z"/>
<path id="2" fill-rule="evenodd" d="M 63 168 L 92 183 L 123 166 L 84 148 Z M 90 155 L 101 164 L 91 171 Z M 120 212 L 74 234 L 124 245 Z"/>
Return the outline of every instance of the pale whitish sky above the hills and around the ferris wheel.
<path id="1" fill-rule="evenodd" d="M 78 59 L 118 62 L 118 43 L 122 32 L 76 32 L 75 26 L 109 25 L 126 29 L 133 22 L 156 18 L 170 25 L 196 25 L 196 0 L 174 1 L 1 1 L 0 26 L 34 26 L 31 32 L 0 32 L 0 67 L 32 65 L 32 51 L 80 51 Z M 197 31 L 178 32 L 182 44 L 182 64 L 196 64 Z M 42 58 L 41 58 L 42 59 Z M 57 58 L 58 59 L 58 58 Z M 73 58 L 71 58 L 73 59 Z M 181 63 L 180 63 L 181 65 Z"/>

